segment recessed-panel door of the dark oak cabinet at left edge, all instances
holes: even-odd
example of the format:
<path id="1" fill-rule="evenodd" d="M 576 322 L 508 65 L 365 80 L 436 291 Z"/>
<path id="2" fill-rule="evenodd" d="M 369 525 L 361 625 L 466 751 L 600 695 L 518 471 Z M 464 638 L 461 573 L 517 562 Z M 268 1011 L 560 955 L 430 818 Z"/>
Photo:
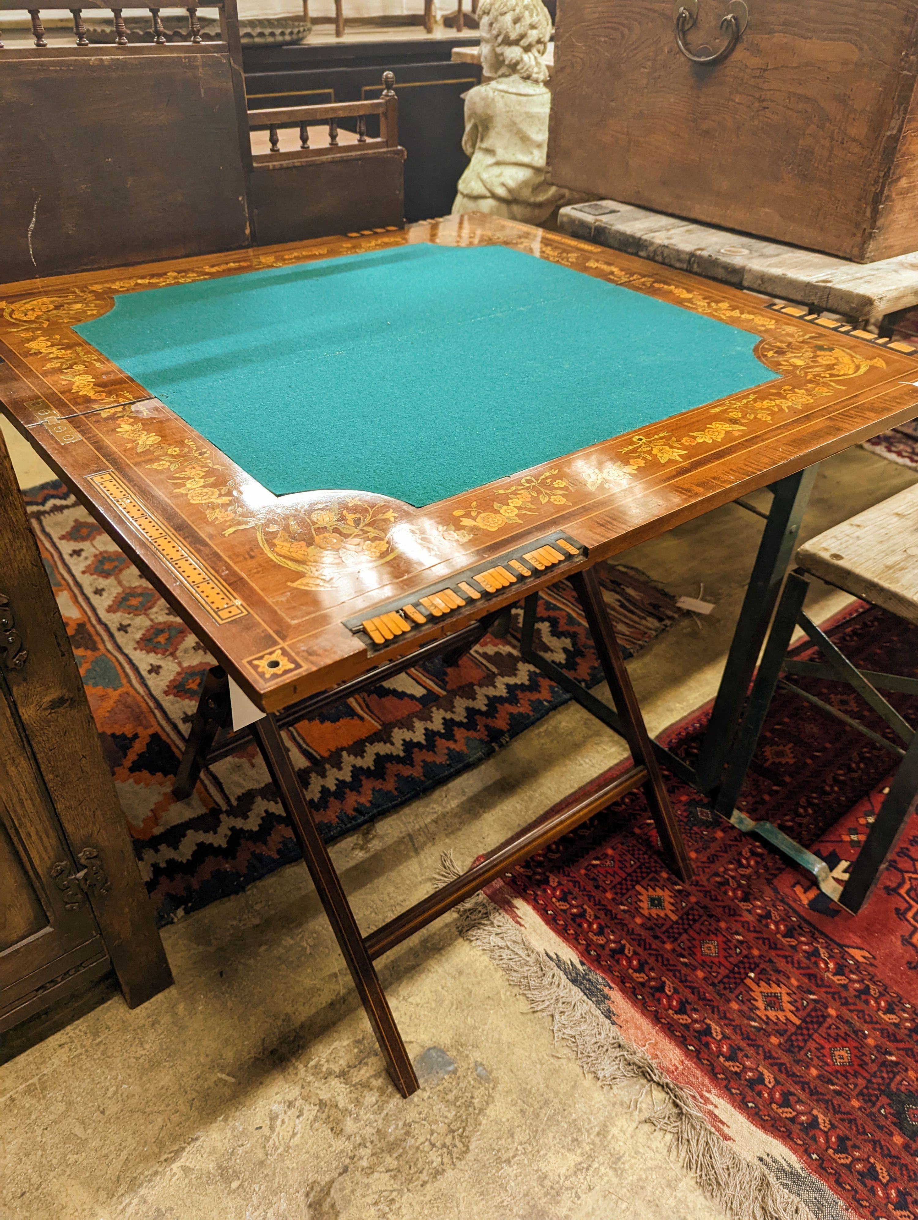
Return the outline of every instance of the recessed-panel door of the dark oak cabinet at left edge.
<path id="1" fill-rule="evenodd" d="M 0 1030 L 110 969 L 28 742 L 0 676 Z"/>

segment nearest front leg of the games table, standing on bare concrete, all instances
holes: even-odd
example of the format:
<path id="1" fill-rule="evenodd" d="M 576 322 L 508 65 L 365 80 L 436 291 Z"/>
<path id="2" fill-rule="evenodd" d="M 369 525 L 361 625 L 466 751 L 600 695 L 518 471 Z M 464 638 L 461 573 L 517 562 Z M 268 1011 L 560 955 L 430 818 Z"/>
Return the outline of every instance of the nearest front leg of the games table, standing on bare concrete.
<path id="1" fill-rule="evenodd" d="M 347 963 L 354 986 L 373 1026 L 389 1075 L 401 1096 L 410 1097 L 418 1088 L 415 1069 L 274 716 L 256 720 L 252 731 L 284 811 L 293 824 L 306 867 Z"/>

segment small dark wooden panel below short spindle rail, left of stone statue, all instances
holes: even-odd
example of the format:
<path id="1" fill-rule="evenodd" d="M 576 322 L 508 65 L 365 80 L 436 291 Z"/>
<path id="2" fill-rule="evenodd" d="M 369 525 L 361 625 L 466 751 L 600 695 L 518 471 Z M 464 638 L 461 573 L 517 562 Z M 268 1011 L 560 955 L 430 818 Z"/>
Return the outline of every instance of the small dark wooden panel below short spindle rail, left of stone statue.
<path id="1" fill-rule="evenodd" d="M 258 245 L 388 226 L 401 228 L 402 150 L 256 168 L 251 194 Z"/>

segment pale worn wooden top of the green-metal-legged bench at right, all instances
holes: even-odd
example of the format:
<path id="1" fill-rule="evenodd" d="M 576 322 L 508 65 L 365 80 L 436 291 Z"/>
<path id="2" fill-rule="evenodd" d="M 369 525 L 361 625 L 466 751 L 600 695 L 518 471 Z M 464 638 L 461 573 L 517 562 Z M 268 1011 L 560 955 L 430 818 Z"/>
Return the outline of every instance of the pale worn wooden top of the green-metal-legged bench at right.
<path id="1" fill-rule="evenodd" d="M 797 566 L 918 623 L 918 484 L 811 538 Z"/>

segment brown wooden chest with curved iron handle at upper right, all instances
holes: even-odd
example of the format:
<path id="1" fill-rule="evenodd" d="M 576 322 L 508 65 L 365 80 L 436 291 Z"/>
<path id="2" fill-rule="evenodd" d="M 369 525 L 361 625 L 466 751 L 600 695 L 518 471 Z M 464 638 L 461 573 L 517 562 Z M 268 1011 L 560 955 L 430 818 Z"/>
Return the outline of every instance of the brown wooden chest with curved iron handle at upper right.
<path id="1" fill-rule="evenodd" d="M 552 181 L 858 262 L 918 250 L 918 0 L 747 0 L 734 41 L 744 9 L 560 0 Z M 700 63 L 678 37 L 734 45 Z"/>

